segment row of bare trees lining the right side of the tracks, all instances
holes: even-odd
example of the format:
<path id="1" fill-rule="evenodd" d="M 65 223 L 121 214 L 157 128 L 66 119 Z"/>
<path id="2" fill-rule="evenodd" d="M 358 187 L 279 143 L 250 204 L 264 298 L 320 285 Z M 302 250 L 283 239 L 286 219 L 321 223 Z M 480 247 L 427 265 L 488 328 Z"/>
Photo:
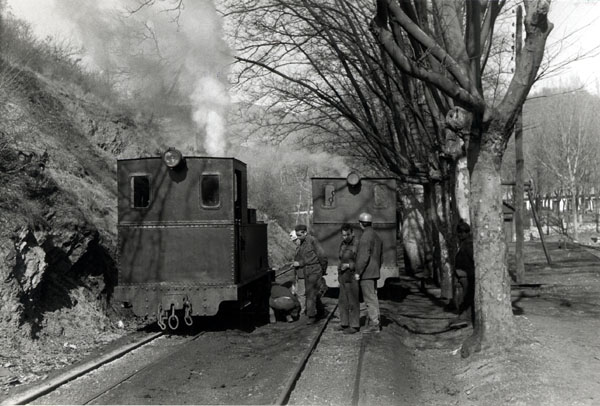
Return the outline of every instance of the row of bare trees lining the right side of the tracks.
<path id="1" fill-rule="evenodd" d="M 506 46 L 494 35 L 504 5 L 444 0 L 223 5 L 225 21 L 235 28 L 226 32 L 235 34 L 238 86 L 271 113 L 263 128 L 286 136 L 310 131 L 304 140 L 312 145 L 423 184 L 425 229 L 439 247 L 436 263 L 446 295 L 455 164 L 466 151 L 477 292 L 475 333 L 465 354 L 514 338 L 500 171 L 552 29 L 549 1 L 524 2 L 523 57 L 506 87 L 487 86 L 490 79 L 502 84 L 502 65 L 493 61 Z"/>

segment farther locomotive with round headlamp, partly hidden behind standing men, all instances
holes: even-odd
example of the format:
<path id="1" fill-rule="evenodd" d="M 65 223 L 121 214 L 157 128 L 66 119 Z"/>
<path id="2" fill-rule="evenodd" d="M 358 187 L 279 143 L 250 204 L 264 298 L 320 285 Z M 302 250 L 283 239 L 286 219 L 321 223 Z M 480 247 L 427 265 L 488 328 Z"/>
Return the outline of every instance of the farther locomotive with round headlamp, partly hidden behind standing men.
<path id="1" fill-rule="evenodd" d="M 328 257 L 325 279 L 328 286 L 337 287 L 338 250 L 341 226 L 349 223 L 355 238 L 360 237 L 358 216 L 373 215 L 373 228 L 383 242 L 383 264 L 378 286 L 398 276 L 396 243 L 396 181 L 392 178 L 363 178 L 356 186 L 346 178 L 312 178 L 313 233 L 323 245 Z"/>

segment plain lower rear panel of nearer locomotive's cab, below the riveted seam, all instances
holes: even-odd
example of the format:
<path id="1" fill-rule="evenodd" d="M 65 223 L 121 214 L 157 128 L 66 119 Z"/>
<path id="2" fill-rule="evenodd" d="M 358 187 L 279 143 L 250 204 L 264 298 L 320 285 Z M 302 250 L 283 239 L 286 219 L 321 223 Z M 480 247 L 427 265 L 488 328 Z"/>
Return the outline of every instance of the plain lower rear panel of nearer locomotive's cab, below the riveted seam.
<path id="1" fill-rule="evenodd" d="M 119 228 L 119 284 L 235 283 L 233 226 Z"/>

